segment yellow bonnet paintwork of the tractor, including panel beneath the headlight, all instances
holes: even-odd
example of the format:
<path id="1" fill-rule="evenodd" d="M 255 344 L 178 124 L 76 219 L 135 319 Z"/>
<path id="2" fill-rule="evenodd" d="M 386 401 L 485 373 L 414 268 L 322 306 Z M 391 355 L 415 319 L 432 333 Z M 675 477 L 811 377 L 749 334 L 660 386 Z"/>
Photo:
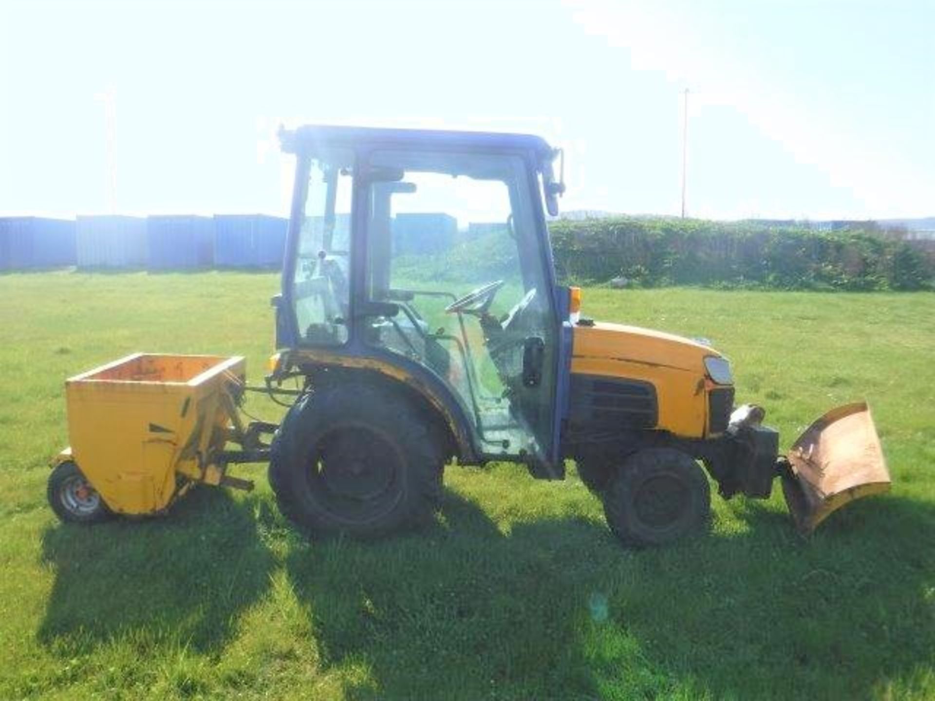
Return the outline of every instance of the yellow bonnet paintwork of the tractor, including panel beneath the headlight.
<path id="1" fill-rule="evenodd" d="M 676 436 L 708 435 L 704 359 L 716 350 L 661 331 L 597 322 L 575 326 L 571 372 L 652 382 L 658 402 L 656 428 Z"/>

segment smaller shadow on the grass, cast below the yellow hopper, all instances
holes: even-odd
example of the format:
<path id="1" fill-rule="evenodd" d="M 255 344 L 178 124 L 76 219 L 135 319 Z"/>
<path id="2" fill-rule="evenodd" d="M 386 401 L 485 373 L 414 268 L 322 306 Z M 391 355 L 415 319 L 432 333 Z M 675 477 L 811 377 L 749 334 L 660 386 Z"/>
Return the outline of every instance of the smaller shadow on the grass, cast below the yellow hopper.
<path id="1" fill-rule="evenodd" d="M 55 579 L 39 641 L 65 654 L 128 634 L 220 649 L 275 565 L 254 507 L 253 496 L 195 489 L 165 517 L 50 526 L 42 557 Z"/>

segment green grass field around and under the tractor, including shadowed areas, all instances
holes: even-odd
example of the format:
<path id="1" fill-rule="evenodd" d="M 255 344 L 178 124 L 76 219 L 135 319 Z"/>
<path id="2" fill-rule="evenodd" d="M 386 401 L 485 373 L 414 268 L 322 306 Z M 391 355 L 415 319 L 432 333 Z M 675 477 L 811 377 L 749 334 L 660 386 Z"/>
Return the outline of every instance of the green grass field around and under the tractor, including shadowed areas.
<path id="1" fill-rule="evenodd" d="M 272 344 L 271 275 L 0 276 L 0 698 L 935 697 L 935 294 L 585 291 L 708 336 L 787 445 L 866 396 L 895 479 L 808 542 L 778 490 L 624 551 L 574 471 L 453 467 L 437 522 L 309 543 L 251 494 L 90 528 L 46 504 L 63 380 L 134 350 Z M 253 412 L 275 416 L 254 400 Z"/>

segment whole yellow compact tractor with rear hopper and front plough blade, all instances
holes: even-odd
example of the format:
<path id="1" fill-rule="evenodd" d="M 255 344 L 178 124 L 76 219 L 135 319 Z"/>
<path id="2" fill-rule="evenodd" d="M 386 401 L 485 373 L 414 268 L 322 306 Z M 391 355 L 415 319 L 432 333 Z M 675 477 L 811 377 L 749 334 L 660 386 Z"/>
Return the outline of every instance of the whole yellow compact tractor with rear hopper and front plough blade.
<path id="1" fill-rule="evenodd" d="M 295 193 L 263 389 L 293 400 L 285 418 L 240 422 L 238 358 L 135 356 L 71 379 L 72 446 L 49 489 L 63 518 L 152 513 L 197 482 L 248 486 L 227 465 L 266 460 L 280 508 L 316 535 L 420 521 L 453 458 L 539 479 L 573 459 L 637 546 L 703 526 L 705 470 L 725 497 L 769 497 L 782 479 L 803 532 L 888 488 L 866 405 L 833 409 L 780 456 L 708 343 L 581 315 L 580 291 L 555 280 L 546 213 L 564 184 L 539 137 L 281 138 Z"/>

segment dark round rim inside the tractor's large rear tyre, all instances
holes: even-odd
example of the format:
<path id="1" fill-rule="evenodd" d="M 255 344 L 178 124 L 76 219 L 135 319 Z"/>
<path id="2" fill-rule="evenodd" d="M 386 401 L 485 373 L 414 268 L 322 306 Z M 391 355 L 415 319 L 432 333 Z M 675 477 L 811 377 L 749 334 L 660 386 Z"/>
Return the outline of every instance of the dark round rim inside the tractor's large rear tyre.
<path id="1" fill-rule="evenodd" d="M 309 491 L 340 522 L 366 523 L 391 511 L 401 496 L 404 465 L 396 442 L 361 426 L 326 433 L 309 455 Z"/>

